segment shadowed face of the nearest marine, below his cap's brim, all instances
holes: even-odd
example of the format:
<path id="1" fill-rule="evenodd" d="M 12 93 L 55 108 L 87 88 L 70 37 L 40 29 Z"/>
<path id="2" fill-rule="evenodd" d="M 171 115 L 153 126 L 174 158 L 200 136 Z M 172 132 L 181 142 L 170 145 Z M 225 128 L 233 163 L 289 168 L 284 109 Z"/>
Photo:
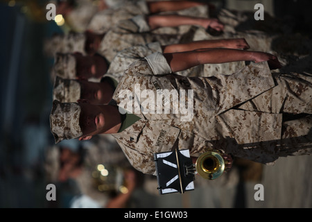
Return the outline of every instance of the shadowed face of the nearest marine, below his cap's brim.
<path id="1" fill-rule="evenodd" d="M 93 136 L 105 131 L 105 118 L 101 105 L 79 103 L 81 112 L 79 124 L 83 136 Z"/>

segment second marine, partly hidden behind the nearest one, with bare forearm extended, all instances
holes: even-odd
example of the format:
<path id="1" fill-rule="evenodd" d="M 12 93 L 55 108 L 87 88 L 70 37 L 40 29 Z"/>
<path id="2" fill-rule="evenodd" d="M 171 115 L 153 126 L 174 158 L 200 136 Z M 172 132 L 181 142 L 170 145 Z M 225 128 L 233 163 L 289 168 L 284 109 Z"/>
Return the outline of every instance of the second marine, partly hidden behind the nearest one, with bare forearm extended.
<path id="1" fill-rule="evenodd" d="M 110 99 L 112 99 L 112 94 L 114 93 L 119 80 L 123 76 L 124 70 L 127 69 L 127 67 L 135 60 L 144 58 L 157 51 L 162 52 L 163 49 L 166 52 L 175 52 L 201 49 L 204 47 L 218 48 L 220 46 L 243 49 L 248 47 L 248 43 L 245 42 L 245 40 L 208 40 L 168 46 L 161 46 L 159 42 L 133 46 L 117 53 L 117 56 L 110 64 L 110 68 L 101 78 L 100 83 L 87 83 L 86 80 L 77 80 L 76 57 L 72 54 L 58 53 L 58 56 L 61 58 L 56 59 L 57 62 L 55 62 L 55 65 L 53 66 L 53 72 L 56 76 L 53 87 L 53 100 L 58 100 L 62 103 L 69 103 L 76 102 L 78 99 L 88 99 L 90 103 L 107 104 Z M 67 57 L 73 58 L 73 65 L 71 65 L 72 60 L 67 59 Z M 209 72 L 209 75 L 217 74 L 218 70 L 220 70 L 219 67 L 223 67 L 223 71 L 225 71 L 226 67 L 234 67 L 234 70 L 236 70 L 239 69 L 239 65 L 243 67 L 244 62 L 211 64 L 211 71 Z M 72 68 L 69 69 L 68 67 Z M 225 73 L 231 73 L 231 71 L 231 69 L 226 69 Z M 179 71 L 177 74 L 182 76 L 206 76 L 205 73 L 203 73 L 203 65 Z"/>

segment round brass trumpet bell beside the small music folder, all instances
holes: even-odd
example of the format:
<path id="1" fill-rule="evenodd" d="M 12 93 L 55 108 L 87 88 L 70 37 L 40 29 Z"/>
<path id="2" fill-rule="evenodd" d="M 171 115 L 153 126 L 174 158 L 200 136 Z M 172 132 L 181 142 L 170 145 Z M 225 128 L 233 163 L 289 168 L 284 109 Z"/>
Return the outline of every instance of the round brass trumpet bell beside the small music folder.
<path id="1" fill-rule="evenodd" d="M 198 157 L 195 167 L 202 178 L 214 180 L 222 175 L 225 169 L 225 161 L 220 153 L 207 151 Z"/>

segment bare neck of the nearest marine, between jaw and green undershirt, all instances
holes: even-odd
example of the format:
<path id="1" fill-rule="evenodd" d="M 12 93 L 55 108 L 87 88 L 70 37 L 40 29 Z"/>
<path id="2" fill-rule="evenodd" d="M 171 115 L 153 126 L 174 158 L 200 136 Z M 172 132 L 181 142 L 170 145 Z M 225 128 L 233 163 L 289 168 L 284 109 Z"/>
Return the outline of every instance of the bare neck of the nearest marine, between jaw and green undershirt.
<path id="1" fill-rule="evenodd" d="M 105 130 L 102 134 L 118 133 L 121 127 L 121 115 L 115 105 L 103 105 L 105 117 Z"/>

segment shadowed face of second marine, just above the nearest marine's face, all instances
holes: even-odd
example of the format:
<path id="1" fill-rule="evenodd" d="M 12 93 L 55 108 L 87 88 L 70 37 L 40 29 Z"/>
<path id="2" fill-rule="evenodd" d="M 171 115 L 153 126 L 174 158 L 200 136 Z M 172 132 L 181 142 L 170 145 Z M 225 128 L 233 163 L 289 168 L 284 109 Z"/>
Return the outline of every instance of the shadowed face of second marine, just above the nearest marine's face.
<path id="1" fill-rule="evenodd" d="M 81 99 L 87 99 L 92 104 L 105 104 L 105 89 L 101 87 L 101 83 L 93 83 L 87 80 L 80 80 Z"/>

